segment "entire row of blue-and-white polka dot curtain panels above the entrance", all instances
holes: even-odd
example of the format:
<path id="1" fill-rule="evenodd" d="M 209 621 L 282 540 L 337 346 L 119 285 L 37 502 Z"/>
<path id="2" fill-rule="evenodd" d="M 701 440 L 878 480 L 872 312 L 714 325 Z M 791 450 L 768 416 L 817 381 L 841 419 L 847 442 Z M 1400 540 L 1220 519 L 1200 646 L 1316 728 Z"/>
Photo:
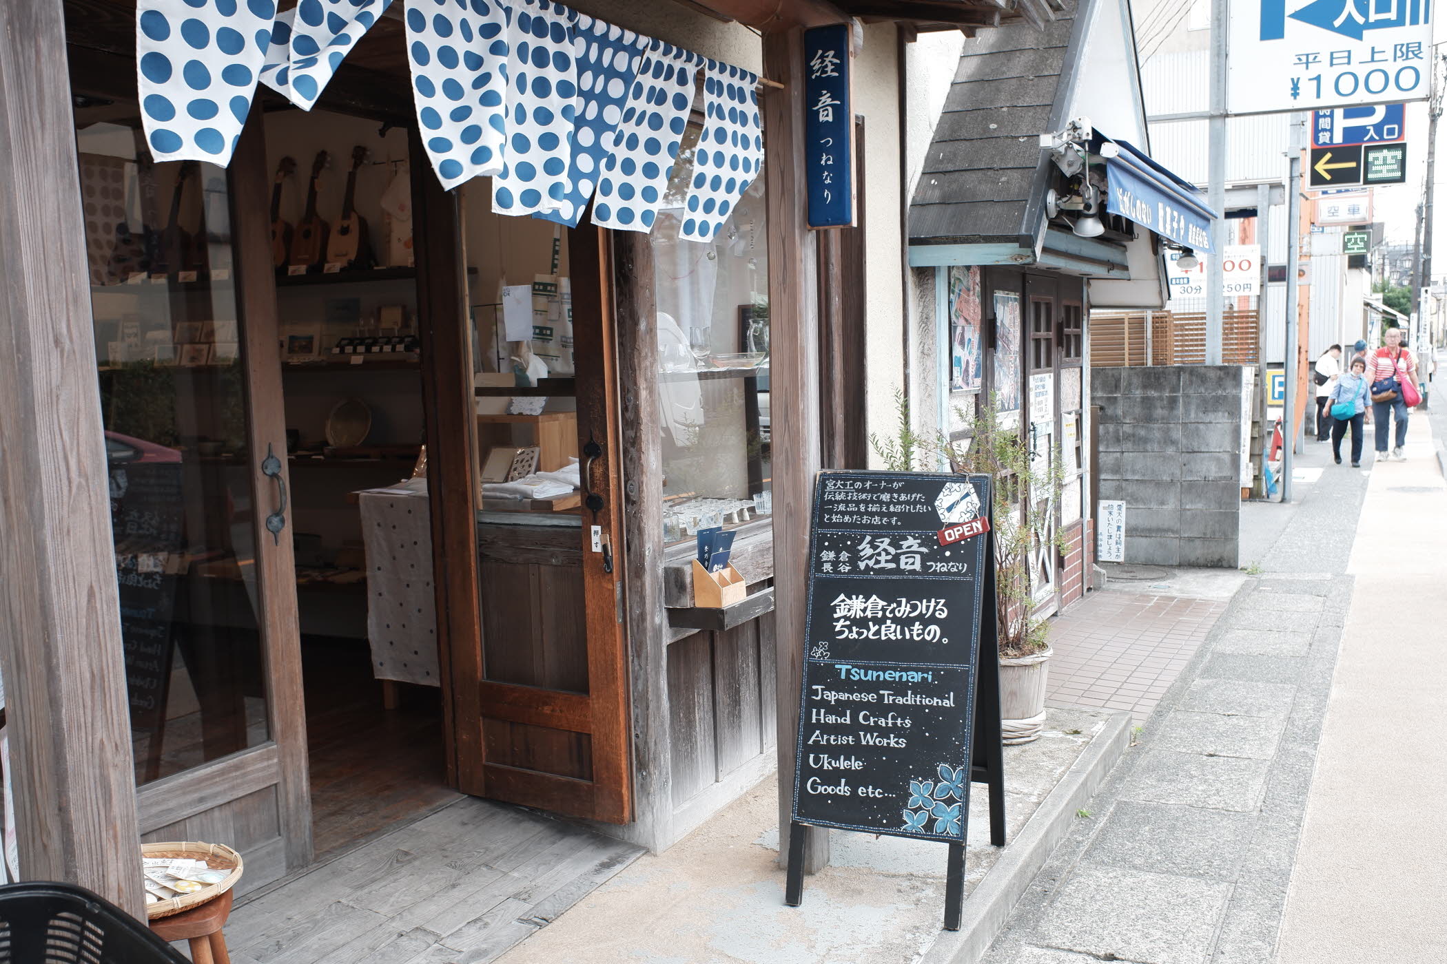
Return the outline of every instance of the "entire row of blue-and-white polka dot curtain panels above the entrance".
<path id="1" fill-rule="evenodd" d="M 3 1 L 3 0 L 0 0 Z M 394 0 L 139 0 L 136 58 L 156 160 L 224 166 L 256 82 L 310 110 Z M 493 211 L 653 228 L 703 74 L 705 129 L 680 237 L 712 241 L 757 178 L 758 78 L 553 0 L 405 4 L 418 130 L 444 188 L 493 178 Z"/>

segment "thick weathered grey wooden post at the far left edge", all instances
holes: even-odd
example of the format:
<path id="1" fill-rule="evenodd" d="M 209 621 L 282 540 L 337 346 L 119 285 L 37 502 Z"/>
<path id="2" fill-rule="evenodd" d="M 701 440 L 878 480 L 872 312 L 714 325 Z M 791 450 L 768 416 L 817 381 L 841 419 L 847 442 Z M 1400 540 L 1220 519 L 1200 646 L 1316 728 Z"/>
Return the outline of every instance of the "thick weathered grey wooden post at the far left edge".
<path id="1" fill-rule="evenodd" d="M 0 4 L 0 668 L 20 873 L 145 916 L 61 0 Z"/>

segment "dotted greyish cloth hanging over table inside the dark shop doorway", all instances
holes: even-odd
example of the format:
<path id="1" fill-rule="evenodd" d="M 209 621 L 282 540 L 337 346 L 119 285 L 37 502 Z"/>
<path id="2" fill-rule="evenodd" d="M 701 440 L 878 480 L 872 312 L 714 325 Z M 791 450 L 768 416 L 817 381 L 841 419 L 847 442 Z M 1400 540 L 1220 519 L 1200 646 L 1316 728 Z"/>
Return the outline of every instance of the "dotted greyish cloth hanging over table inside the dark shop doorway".
<path id="1" fill-rule="evenodd" d="M 357 494 L 366 543 L 366 634 L 378 679 L 438 687 L 433 530 L 421 486 Z"/>

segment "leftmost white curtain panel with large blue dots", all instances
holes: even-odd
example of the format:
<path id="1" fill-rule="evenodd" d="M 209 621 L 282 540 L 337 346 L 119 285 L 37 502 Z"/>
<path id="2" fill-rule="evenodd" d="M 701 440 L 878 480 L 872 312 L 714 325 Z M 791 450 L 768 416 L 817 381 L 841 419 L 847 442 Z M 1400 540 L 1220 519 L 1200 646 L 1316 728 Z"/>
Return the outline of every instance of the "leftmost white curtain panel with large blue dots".
<path id="1" fill-rule="evenodd" d="M 136 4 L 136 85 L 156 160 L 230 163 L 275 16 L 275 0 Z"/>

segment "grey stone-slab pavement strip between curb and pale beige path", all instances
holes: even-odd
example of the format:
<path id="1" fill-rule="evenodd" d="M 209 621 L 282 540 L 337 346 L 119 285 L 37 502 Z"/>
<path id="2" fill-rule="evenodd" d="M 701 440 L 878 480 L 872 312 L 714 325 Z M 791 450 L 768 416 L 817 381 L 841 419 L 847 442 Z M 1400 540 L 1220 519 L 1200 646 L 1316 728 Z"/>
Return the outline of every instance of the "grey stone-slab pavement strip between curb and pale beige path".
<path id="1" fill-rule="evenodd" d="M 984 964 L 1272 960 L 1351 584 L 1243 585 Z"/>

